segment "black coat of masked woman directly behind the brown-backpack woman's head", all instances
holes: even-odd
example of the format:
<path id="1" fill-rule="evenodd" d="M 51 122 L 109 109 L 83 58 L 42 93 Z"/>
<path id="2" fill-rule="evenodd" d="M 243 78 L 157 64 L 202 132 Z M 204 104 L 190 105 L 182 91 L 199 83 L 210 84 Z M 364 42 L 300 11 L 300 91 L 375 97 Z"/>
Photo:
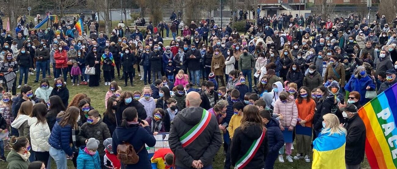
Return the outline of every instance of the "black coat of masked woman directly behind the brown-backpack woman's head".
<path id="1" fill-rule="evenodd" d="M 121 124 L 121 119 L 123 117 L 123 111 L 127 107 L 135 107 L 138 111 L 138 117 L 141 118 L 142 120 L 145 120 L 147 115 L 146 115 L 146 110 L 144 106 L 137 100 L 132 100 L 131 103 L 125 104 L 124 100 L 119 101 L 117 111 L 116 111 L 116 122 L 117 124 Z"/>

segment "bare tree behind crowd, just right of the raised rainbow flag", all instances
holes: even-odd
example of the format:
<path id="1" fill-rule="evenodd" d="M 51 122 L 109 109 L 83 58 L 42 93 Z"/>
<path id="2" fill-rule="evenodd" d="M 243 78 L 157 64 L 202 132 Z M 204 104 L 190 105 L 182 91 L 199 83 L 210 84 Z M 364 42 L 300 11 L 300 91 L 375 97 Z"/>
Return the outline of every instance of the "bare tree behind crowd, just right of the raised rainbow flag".
<path id="1" fill-rule="evenodd" d="M 115 0 L 89 0 L 88 4 L 92 4 L 91 8 L 98 11 L 99 15 L 104 18 L 105 32 L 110 32 L 110 8 Z"/>

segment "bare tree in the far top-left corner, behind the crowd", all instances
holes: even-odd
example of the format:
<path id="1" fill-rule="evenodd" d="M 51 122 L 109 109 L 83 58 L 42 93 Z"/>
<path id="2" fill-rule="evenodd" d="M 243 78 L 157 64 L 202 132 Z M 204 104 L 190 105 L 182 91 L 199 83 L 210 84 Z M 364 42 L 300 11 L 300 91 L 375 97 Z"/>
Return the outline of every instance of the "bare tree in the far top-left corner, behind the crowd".
<path id="1" fill-rule="evenodd" d="M 4 7 L 4 12 L 10 18 L 10 30 L 15 34 L 15 27 L 18 24 L 18 18 L 23 14 L 26 14 L 28 11 L 26 10 L 30 5 L 32 9 L 36 8 L 39 5 L 40 1 L 29 2 L 28 0 L 4 0 L 2 2 L 2 6 Z"/>

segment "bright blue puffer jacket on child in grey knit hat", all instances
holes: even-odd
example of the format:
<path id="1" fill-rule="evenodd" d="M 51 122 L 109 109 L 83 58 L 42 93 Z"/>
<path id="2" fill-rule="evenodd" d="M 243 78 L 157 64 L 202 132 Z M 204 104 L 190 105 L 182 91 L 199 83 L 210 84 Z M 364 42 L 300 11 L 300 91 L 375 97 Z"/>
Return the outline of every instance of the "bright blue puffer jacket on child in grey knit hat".
<path id="1" fill-rule="evenodd" d="M 79 156 L 77 156 L 77 169 L 100 169 L 99 153 L 96 151 L 94 156 L 84 151 L 85 146 L 79 148 Z"/>

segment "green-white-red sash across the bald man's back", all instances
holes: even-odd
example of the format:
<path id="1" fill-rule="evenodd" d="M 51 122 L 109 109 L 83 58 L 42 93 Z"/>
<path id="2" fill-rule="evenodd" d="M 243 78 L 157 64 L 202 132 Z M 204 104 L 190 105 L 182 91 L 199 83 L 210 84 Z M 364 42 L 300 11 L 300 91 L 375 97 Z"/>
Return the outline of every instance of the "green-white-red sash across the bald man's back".
<path id="1" fill-rule="evenodd" d="M 179 140 L 181 141 L 182 147 L 185 148 L 187 145 L 193 142 L 204 129 L 208 126 L 211 120 L 211 113 L 203 109 L 200 122 L 191 128 L 185 135 L 183 135 Z"/>

